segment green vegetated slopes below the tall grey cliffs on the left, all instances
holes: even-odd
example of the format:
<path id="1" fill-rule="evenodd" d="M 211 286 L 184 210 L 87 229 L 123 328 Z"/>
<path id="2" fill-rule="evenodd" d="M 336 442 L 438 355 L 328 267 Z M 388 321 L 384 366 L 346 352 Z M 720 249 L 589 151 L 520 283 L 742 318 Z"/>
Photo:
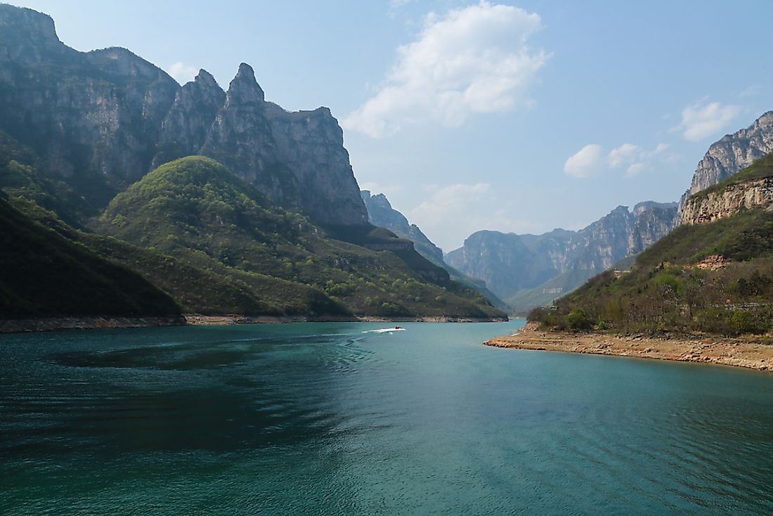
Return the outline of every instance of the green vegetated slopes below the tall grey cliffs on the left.
<path id="1" fill-rule="evenodd" d="M 0 134 L 0 191 L 16 217 L 0 220 L 0 227 L 15 224 L 2 235 L 13 235 L 15 247 L 2 257 L 8 277 L 0 283 L 0 318 L 181 310 L 311 317 L 503 315 L 390 231 L 315 227 L 306 217 L 275 207 L 211 159 L 189 157 L 159 167 L 90 221 L 94 208 L 48 177 L 32 149 Z M 83 224 L 97 233 L 83 231 Z M 61 252 L 36 251 L 19 231 L 28 236 L 42 231 L 53 238 L 46 245 Z M 57 253 L 77 257 L 73 260 L 82 267 L 66 273 L 64 265 L 47 267 L 45 255 L 56 261 Z M 60 273 L 68 280 L 57 283 Z M 94 294 L 97 278 L 107 281 L 99 286 L 100 295 Z M 66 285 L 70 293 L 45 285 Z M 109 302 L 106 292 L 112 292 Z M 160 300 L 152 301 L 151 293 Z"/>

